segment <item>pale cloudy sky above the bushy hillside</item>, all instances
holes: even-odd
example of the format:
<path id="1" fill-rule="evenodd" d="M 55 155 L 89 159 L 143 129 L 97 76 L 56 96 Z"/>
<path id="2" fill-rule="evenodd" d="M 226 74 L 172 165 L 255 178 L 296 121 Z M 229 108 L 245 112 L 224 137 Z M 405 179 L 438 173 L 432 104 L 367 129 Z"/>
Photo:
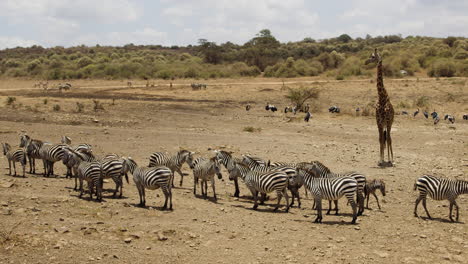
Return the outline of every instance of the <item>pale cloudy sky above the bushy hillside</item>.
<path id="1" fill-rule="evenodd" d="M 0 0 L 0 49 L 243 44 L 401 34 L 468 37 L 468 0 Z"/>

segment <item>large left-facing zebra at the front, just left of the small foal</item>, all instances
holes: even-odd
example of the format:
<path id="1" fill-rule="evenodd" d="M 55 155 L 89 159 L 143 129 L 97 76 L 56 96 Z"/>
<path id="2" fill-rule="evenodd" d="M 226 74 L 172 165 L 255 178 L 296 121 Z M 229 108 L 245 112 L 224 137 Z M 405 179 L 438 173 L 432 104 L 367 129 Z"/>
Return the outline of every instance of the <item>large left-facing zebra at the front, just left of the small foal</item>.
<path id="1" fill-rule="evenodd" d="M 322 222 L 322 199 L 338 201 L 343 196 L 348 199 L 353 210 L 351 223 L 356 223 L 358 214 L 356 212 L 354 194 L 357 192 L 358 182 L 354 178 L 347 176 L 322 178 L 319 177 L 315 171 L 302 168 L 297 168 L 296 170 L 298 177 L 303 179 L 304 185 L 314 196 L 314 202 L 317 204 L 317 218 L 314 220 L 315 223 Z M 335 204 L 337 204 L 337 202 Z"/>

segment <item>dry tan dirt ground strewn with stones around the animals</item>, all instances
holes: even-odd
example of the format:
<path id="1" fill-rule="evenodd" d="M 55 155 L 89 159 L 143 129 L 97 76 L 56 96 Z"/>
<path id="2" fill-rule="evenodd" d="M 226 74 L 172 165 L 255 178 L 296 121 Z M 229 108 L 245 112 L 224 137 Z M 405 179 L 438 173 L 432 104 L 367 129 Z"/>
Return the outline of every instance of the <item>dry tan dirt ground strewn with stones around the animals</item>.
<path id="1" fill-rule="evenodd" d="M 203 81 L 196 81 L 203 82 Z M 434 220 L 413 216 L 415 179 L 422 174 L 468 180 L 468 113 L 466 79 L 385 80 L 396 112 L 423 109 L 450 113 L 455 124 L 434 126 L 421 113 L 396 115 L 393 125 L 395 166 L 377 167 L 375 117 L 356 116 L 358 106 L 376 100 L 369 80 L 288 80 L 289 87 L 316 87 L 320 98 L 311 102 L 313 118 L 302 121 L 281 111 L 264 110 L 268 101 L 280 110 L 289 102 L 281 80 L 206 81 L 208 88 L 192 91 L 185 83 L 158 81 L 156 87 L 126 88 L 122 81 L 82 81 L 60 93 L 31 89 L 34 81 L 0 81 L 0 138 L 19 144 L 19 135 L 59 142 L 90 143 L 94 152 L 133 157 L 148 163 L 155 151 L 179 148 L 213 155 L 213 149 L 250 153 L 272 161 L 320 160 L 333 171 L 356 170 L 368 179 L 387 183 L 382 210 L 375 200 L 356 225 L 349 225 L 350 207 L 340 201 L 338 216 L 312 221 L 312 200 L 303 196 L 302 208 L 272 212 L 275 195 L 253 211 L 241 182 L 241 198 L 223 169 L 216 179 L 218 201 L 194 196 L 193 176 L 184 165 L 183 187 L 175 188 L 174 210 L 161 211 L 160 190 L 147 191 L 147 208 L 136 207 L 134 183 L 124 185 L 124 198 L 113 199 L 112 182 L 105 184 L 104 201 L 83 199 L 64 179 L 56 163 L 56 178 L 7 175 L 0 158 L 0 263 L 467 263 L 468 196 L 458 199 L 459 223 L 448 221 L 448 202 L 428 200 Z M 302 84 L 301 84 L 302 83 Z M 134 85 L 138 85 L 134 82 Z M 88 87 L 88 88 L 87 88 Z M 7 105 L 7 97 L 15 97 Z M 423 97 L 426 96 L 426 97 Z M 93 110 L 98 100 L 104 110 Z M 77 112 L 76 103 L 84 104 Z M 249 112 L 244 110 L 252 105 Z M 55 105 L 59 111 L 53 111 Z M 331 105 L 343 112 L 332 115 Z M 253 127 L 255 132 L 244 131 Z M 42 172 L 40 162 L 36 165 Z M 179 176 L 176 175 L 176 182 Z M 208 195 L 212 197 L 211 188 Z M 282 201 L 284 204 L 284 200 Z M 325 202 L 323 203 L 325 206 Z"/>

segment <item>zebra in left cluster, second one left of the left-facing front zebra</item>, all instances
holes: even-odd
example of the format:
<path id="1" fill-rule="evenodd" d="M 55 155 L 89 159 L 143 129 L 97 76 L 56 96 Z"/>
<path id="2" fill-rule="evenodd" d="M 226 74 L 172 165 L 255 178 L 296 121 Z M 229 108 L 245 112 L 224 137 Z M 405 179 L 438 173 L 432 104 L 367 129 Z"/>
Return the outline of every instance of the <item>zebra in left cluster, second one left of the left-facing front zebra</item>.
<path id="1" fill-rule="evenodd" d="M 84 192 L 83 181 L 88 183 L 89 197 L 93 199 L 94 188 L 96 188 L 96 200 L 102 201 L 102 167 L 101 163 L 97 161 L 86 162 L 83 161 L 77 168 L 78 179 L 80 180 L 80 195 L 81 198 Z"/>

